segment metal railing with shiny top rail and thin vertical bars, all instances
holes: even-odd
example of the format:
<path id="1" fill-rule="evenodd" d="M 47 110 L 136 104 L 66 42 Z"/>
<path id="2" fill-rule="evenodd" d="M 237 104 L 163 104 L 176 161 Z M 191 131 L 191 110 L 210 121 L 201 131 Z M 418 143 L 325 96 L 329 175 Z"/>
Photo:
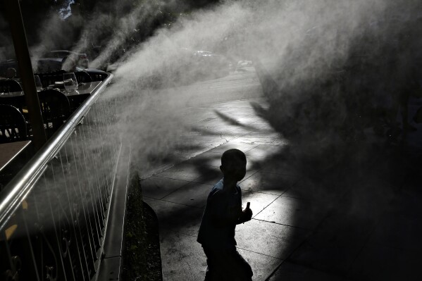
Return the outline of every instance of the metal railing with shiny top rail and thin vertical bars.
<path id="1" fill-rule="evenodd" d="M 121 144 L 109 74 L 0 192 L 0 280 L 96 280 Z"/>

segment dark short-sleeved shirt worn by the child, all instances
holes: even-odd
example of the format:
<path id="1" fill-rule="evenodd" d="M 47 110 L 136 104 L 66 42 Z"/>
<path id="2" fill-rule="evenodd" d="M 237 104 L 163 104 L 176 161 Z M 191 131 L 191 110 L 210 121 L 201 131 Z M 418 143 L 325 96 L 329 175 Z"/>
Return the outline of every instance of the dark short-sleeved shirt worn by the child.
<path id="1" fill-rule="evenodd" d="M 242 215 L 242 192 L 223 192 L 223 180 L 211 189 L 206 199 L 204 215 L 197 242 L 213 248 L 231 248 L 236 245 L 235 228 Z"/>

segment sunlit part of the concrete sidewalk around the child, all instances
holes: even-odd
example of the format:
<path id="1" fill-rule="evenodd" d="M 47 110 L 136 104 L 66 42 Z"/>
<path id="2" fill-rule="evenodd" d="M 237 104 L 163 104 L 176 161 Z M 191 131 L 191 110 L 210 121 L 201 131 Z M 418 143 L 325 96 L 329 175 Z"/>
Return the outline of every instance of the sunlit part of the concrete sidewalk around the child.
<path id="1" fill-rule="evenodd" d="M 202 108 L 203 120 L 199 127 L 203 135 L 216 135 L 219 142 L 214 148 L 203 154 L 168 170 L 143 180 L 142 192 L 147 202 L 159 217 L 161 227 L 161 257 L 163 261 L 163 276 L 165 280 L 202 280 L 206 270 L 206 259 L 201 245 L 196 242 L 199 223 L 204 211 L 206 196 L 213 184 L 221 179 L 219 170 L 223 151 L 237 148 L 247 154 L 247 175 L 241 187 L 244 189 L 243 202 L 251 201 L 254 220 L 237 227 L 237 242 L 242 255 L 249 260 L 254 268 L 254 280 L 264 280 L 277 266 L 287 251 L 278 253 L 275 248 L 283 248 L 288 242 L 299 242 L 297 237 L 290 241 L 290 234 L 303 232 L 297 227 L 280 225 L 266 221 L 267 206 L 281 199 L 280 190 L 265 190 L 259 179 L 261 167 L 256 165 L 273 151 L 283 149 L 285 142 L 273 132 L 265 120 L 262 120 L 251 105 L 251 102 L 263 104 L 262 99 L 228 101 L 212 104 Z M 211 114 L 209 114 L 211 113 Z M 233 120 L 225 119 L 233 118 Z M 230 116 L 230 117 L 229 117 Z M 287 190 L 298 179 L 285 175 L 285 183 L 280 182 Z M 277 203 L 277 202 L 275 202 Z M 254 233 L 256 230 L 260 234 Z M 261 230 L 265 230 L 265 235 Z M 275 234 L 283 237 L 272 239 Z M 251 243 L 254 236 L 261 242 Z M 272 240 L 271 243 L 268 241 Z M 282 242 L 282 244 L 280 244 Z M 292 244 L 292 243 L 288 243 Z"/>

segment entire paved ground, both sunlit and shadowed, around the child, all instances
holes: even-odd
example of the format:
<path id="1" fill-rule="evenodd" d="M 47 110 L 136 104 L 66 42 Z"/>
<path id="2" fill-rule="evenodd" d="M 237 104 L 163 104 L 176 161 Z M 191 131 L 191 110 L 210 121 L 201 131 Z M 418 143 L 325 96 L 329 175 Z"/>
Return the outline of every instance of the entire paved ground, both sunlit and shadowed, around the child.
<path id="1" fill-rule="evenodd" d="M 186 87 L 209 98 L 184 108 L 183 142 L 142 171 L 144 201 L 159 218 L 163 279 L 204 278 L 199 223 L 221 154 L 237 148 L 248 161 L 243 204 L 254 211 L 237 226 L 237 248 L 254 280 L 419 280 L 421 125 L 409 134 L 410 151 L 372 132 L 328 144 L 287 138 L 266 118 L 271 104 L 248 71 Z"/>

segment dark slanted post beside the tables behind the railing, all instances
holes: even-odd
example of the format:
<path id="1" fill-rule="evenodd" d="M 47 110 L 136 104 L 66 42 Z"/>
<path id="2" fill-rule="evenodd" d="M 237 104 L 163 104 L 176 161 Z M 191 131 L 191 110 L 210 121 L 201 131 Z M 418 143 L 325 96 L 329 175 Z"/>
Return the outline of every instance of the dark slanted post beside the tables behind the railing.
<path id="1" fill-rule="evenodd" d="M 39 107 L 37 88 L 35 87 L 30 51 L 27 46 L 25 27 L 23 26 L 22 14 L 20 13 L 19 0 L 6 0 L 4 1 L 4 6 L 8 15 L 8 23 L 11 27 L 13 46 L 15 47 L 15 54 L 18 59 L 20 78 L 25 93 L 28 115 L 30 116 L 33 135 L 32 142 L 37 151 L 45 144 L 46 135 L 41 108 Z"/>

